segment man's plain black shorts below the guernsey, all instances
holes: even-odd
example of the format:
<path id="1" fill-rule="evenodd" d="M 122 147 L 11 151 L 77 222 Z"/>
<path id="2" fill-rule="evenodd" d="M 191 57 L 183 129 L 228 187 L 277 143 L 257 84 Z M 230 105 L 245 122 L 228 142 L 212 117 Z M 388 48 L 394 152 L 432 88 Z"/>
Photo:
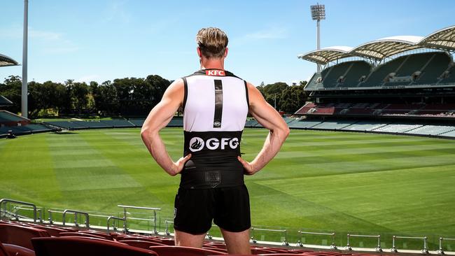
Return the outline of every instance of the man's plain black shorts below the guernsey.
<path id="1" fill-rule="evenodd" d="M 174 203 L 174 229 L 204 234 L 211 222 L 228 232 L 251 227 L 250 199 L 245 185 L 192 190 L 179 187 Z"/>

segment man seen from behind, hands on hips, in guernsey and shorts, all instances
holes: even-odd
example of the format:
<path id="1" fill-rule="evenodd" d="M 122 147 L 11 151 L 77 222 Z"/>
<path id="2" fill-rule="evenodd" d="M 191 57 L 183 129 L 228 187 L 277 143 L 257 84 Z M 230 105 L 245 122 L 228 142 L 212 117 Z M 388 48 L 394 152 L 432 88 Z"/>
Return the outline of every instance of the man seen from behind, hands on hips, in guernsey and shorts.
<path id="1" fill-rule="evenodd" d="M 279 151 L 289 134 L 283 118 L 262 94 L 224 69 L 228 36 L 209 27 L 197 33 L 201 70 L 174 81 L 152 109 L 141 136 L 169 175 L 181 173 L 175 199 L 176 246 L 201 248 L 211 221 L 220 227 L 230 254 L 251 254 L 250 208 L 244 174 L 253 175 Z M 183 107 L 184 157 L 173 162 L 158 132 Z M 240 157 L 246 115 L 269 134 L 251 162 Z"/>

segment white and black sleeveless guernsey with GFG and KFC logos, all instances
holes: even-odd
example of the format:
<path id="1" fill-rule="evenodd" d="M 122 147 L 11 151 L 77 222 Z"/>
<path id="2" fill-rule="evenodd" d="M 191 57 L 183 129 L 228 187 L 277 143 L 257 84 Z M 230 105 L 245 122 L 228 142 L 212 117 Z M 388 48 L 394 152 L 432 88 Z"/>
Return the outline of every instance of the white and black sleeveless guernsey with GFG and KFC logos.
<path id="1" fill-rule="evenodd" d="M 183 155 L 191 154 L 180 186 L 190 189 L 244 185 L 241 133 L 248 114 L 246 81 L 229 71 L 204 69 L 183 78 Z"/>

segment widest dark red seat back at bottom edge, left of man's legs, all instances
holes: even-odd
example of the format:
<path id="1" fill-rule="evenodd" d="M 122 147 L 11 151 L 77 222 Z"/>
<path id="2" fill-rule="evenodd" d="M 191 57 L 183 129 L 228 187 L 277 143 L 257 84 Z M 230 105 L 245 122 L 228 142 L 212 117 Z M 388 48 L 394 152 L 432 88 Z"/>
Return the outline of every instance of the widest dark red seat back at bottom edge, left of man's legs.
<path id="1" fill-rule="evenodd" d="M 149 256 L 151 250 L 127 246 L 116 241 L 84 237 L 43 237 L 31 239 L 36 256 Z"/>

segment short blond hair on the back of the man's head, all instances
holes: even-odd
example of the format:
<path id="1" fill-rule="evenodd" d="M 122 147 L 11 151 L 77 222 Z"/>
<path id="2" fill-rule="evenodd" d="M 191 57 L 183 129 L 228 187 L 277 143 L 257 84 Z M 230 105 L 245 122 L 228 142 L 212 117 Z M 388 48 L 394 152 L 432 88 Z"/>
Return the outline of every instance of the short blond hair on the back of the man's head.
<path id="1" fill-rule="evenodd" d="M 200 29 L 196 35 L 197 46 L 199 46 L 202 55 L 207 58 L 223 57 L 228 41 L 225 32 L 216 27 Z"/>

